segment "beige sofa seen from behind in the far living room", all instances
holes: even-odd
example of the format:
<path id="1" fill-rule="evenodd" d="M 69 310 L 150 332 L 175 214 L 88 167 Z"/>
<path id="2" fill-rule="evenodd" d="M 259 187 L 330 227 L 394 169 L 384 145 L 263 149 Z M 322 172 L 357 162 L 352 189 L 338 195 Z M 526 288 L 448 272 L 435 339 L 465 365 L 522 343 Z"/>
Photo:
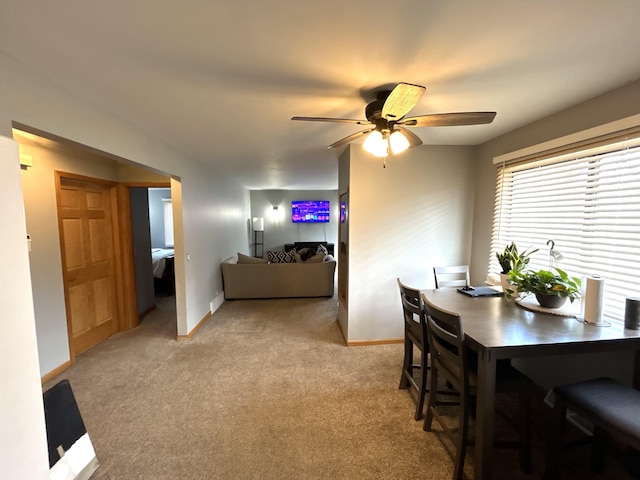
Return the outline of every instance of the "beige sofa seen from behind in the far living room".
<path id="1" fill-rule="evenodd" d="M 287 298 L 333 296 L 336 262 L 237 263 L 220 265 L 224 298 Z"/>

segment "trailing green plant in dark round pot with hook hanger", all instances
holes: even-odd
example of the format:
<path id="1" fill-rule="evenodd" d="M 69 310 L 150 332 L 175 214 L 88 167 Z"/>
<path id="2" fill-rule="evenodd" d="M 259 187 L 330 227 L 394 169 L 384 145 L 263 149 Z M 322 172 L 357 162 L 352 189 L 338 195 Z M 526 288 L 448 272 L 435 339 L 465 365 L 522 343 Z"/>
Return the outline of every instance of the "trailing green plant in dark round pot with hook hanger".
<path id="1" fill-rule="evenodd" d="M 506 290 L 509 300 L 523 298 L 531 293 L 538 303 L 547 308 L 559 308 L 567 298 L 573 303 L 580 298 L 582 282 L 577 277 L 570 277 L 564 270 L 511 271 L 509 279 L 512 287 Z"/>

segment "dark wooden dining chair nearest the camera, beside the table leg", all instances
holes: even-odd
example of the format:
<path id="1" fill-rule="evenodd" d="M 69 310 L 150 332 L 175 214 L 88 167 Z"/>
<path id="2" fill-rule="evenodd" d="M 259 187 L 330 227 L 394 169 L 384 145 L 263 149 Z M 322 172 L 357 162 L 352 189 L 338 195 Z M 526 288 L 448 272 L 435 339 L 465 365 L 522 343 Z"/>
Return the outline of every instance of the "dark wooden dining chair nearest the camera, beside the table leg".
<path id="1" fill-rule="evenodd" d="M 433 305 L 422 295 L 427 324 L 427 338 L 431 357 L 431 383 L 429 401 L 424 419 L 424 430 L 431 431 L 435 419 L 456 446 L 453 479 L 463 477 L 464 460 L 469 441 L 469 418 L 475 409 L 478 377 L 477 357 L 466 347 L 462 319 L 459 314 Z M 475 360 L 475 361 L 474 361 Z M 460 394 L 457 431 L 449 426 L 439 406 L 451 405 L 437 391 L 442 377 Z M 434 393 L 435 392 L 435 393 Z M 496 393 L 518 394 L 520 468 L 531 471 L 531 382 L 510 364 L 499 362 L 496 371 Z"/>

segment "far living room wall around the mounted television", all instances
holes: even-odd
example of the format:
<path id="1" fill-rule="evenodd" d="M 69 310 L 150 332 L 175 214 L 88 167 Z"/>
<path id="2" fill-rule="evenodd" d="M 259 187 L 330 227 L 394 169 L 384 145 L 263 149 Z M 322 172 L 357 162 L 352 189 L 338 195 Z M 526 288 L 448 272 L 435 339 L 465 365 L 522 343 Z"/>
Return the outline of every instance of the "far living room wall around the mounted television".
<path id="1" fill-rule="evenodd" d="M 337 190 L 252 190 L 251 216 L 264 218 L 264 256 L 269 250 L 283 250 L 285 243 L 322 241 L 338 243 L 340 222 Z M 331 218 L 328 223 L 293 223 L 291 221 L 292 200 L 329 200 Z M 278 210 L 273 209 L 278 206 Z M 251 251 L 240 252 L 253 255 Z"/>

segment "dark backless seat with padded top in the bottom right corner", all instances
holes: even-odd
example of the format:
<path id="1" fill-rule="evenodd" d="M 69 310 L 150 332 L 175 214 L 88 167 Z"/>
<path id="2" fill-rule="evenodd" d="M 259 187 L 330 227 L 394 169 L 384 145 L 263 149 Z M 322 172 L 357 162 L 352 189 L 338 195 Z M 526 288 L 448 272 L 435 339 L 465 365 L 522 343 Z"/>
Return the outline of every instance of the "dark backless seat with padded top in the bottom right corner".
<path id="1" fill-rule="evenodd" d="M 601 377 L 562 385 L 554 388 L 553 393 L 545 480 L 563 477 L 562 441 L 568 410 L 593 425 L 592 471 L 599 472 L 602 469 L 608 436 L 618 439 L 622 445 L 640 450 L 640 391 L 611 378 Z"/>

